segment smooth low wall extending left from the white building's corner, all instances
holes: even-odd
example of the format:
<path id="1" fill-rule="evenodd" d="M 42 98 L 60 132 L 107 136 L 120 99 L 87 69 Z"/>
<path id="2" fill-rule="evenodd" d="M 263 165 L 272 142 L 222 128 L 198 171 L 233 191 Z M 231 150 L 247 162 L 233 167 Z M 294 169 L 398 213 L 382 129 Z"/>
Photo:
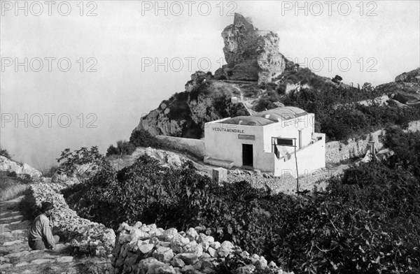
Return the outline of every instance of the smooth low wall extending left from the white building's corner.
<path id="1" fill-rule="evenodd" d="M 158 135 L 156 138 L 164 141 L 169 147 L 173 147 L 180 151 L 186 151 L 200 160 L 204 159 L 204 140 L 163 135 Z"/>

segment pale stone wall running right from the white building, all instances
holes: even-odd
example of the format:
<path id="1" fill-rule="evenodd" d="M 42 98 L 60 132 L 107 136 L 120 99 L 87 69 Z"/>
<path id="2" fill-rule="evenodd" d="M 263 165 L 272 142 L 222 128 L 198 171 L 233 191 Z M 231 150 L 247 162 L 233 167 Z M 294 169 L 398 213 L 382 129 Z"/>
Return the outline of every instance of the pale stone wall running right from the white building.
<path id="1" fill-rule="evenodd" d="M 420 121 L 409 122 L 407 131 L 420 131 Z M 379 136 L 382 134 L 385 134 L 383 129 L 372 132 L 377 150 L 384 147 L 384 144 L 379 141 Z M 339 141 L 328 142 L 325 145 L 325 162 L 335 164 L 353 157 L 363 157 L 366 154 L 368 142 L 369 134 L 365 135 L 364 140 L 350 139 L 347 145 Z"/>

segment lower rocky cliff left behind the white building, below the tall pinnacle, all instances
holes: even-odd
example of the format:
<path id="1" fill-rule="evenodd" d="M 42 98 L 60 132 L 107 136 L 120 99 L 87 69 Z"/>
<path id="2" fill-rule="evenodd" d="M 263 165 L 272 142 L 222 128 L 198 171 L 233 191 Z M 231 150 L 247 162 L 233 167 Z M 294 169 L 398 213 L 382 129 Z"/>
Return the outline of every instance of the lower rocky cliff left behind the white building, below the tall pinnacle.
<path id="1" fill-rule="evenodd" d="M 174 94 L 141 117 L 134 131 L 146 129 L 155 136 L 202 138 L 206 122 L 250 115 L 242 101 L 232 103 L 231 100 L 234 96 L 240 97 L 241 87 L 246 85 L 214 80 L 211 73 L 197 71 L 186 83 L 184 92 Z"/>

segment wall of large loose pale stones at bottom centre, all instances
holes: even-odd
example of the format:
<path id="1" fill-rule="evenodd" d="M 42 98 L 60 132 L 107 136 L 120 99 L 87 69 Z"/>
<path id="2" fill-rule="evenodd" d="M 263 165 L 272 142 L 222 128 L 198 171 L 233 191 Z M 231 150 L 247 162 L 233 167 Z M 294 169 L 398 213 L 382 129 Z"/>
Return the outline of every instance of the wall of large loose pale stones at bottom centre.
<path id="1" fill-rule="evenodd" d="M 226 257 L 248 258 L 252 264 L 237 269 L 237 273 L 252 273 L 265 269 L 265 273 L 284 273 L 274 262 L 267 264 L 264 257 L 250 256 L 229 241 L 219 243 L 213 237 L 198 233 L 200 228 L 186 232 L 160 229 L 155 224 L 134 226 L 121 224 L 116 247 L 113 250 L 113 274 L 177 274 L 215 273 Z M 286 273 L 285 273 L 286 274 Z"/>

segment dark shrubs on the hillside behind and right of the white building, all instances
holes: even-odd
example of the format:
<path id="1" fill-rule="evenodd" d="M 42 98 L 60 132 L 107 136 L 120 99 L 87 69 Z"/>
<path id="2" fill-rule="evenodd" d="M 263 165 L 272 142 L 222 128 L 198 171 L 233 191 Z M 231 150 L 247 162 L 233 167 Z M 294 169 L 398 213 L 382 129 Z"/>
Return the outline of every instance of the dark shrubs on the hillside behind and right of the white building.
<path id="1" fill-rule="evenodd" d="M 354 102 L 373 99 L 381 96 L 380 89 L 374 89 L 370 83 L 365 83 L 361 89 L 342 87 L 319 77 L 309 69 L 286 71 L 279 76 L 285 83 L 307 84 L 309 88 L 301 88 L 300 92 L 290 92 L 278 98 L 286 87 L 279 86 L 277 96 L 260 99 L 255 110 L 271 108 L 274 101 L 282 101 L 286 106 L 297 106 L 309 113 L 314 113 L 319 123 L 317 131 L 326 134 L 328 140 L 347 140 L 371 131 L 396 124 L 407 127 L 408 122 L 420 119 L 420 107 L 400 108 L 394 104 L 390 106 L 363 106 Z M 337 76 L 335 77 L 337 78 Z M 337 78 L 339 80 L 339 78 Z M 397 96 L 398 101 L 408 99 Z"/>

